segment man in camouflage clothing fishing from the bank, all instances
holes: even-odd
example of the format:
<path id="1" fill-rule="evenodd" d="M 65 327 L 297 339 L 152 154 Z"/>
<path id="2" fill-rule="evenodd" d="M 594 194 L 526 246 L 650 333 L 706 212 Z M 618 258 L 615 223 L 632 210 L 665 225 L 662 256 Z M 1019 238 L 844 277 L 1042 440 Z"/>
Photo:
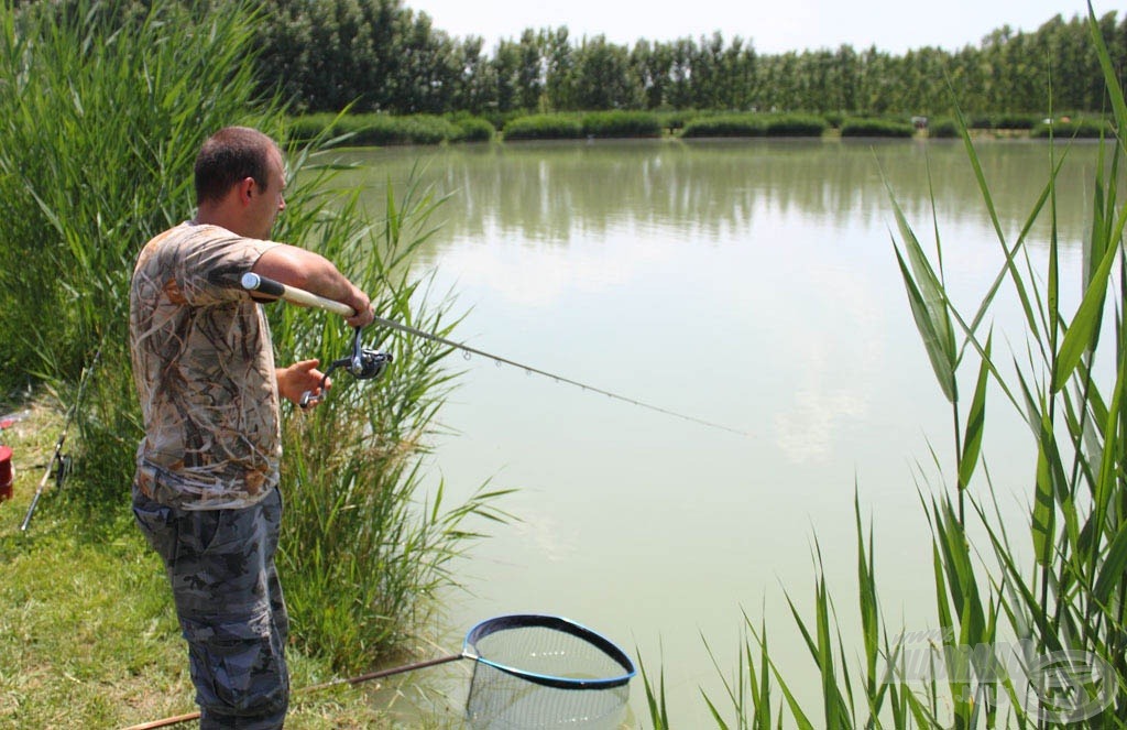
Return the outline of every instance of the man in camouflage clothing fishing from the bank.
<path id="1" fill-rule="evenodd" d="M 246 127 L 216 132 L 195 165 L 197 214 L 142 249 L 130 344 L 144 419 L 133 511 L 165 561 L 202 728 L 281 728 L 289 621 L 274 553 L 282 512 L 279 398 L 319 394 L 317 360 L 276 368 L 246 272 L 344 302 L 367 296 L 318 254 L 269 240 L 285 210 L 282 152 Z"/>

